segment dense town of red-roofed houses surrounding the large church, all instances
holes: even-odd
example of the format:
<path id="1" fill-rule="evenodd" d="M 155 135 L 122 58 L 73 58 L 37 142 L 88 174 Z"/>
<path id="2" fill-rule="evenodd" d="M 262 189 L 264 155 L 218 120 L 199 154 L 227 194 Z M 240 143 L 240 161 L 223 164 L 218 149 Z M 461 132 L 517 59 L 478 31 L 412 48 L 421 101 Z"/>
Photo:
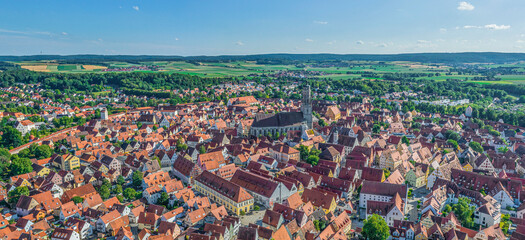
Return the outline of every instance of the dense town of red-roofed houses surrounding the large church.
<path id="1" fill-rule="evenodd" d="M 40 109 L 0 113 L 30 135 L 9 153 L 53 149 L 0 182 L 0 238 L 343 240 L 379 217 L 388 239 L 525 239 L 525 128 L 473 119 L 470 107 L 401 112 L 399 96 L 417 93 L 384 96 L 395 110 L 298 84 L 280 90 L 300 100 L 238 96 L 265 87 L 223 84 L 213 94 L 236 97 L 149 107 L 120 92 L 78 94 L 83 105 L 72 106 L 38 85 L 0 89 L 3 105 Z M 64 117 L 86 121 L 57 129 Z"/>

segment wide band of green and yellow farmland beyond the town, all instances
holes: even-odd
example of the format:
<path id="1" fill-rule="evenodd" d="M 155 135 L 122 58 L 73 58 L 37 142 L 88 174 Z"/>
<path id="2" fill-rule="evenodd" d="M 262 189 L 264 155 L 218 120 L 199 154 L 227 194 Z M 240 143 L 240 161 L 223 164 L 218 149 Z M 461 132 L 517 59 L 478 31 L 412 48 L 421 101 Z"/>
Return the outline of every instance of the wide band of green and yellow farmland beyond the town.
<path id="1" fill-rule="evenodd" d="M 496 74 L 496 78 L 484 80 L 482 73 L 455 72 L 444 64 L 424 64 L 416 62 L 305 62 L 296 65 L 258 64 L 255 61 L 233 62 L 186 62 L 186 61 L 151 61 L 151 62 L 101 62 L 100 65 L 60 64 L 56 61 L 14 62 L 21 68 L 38 72 L 83 73 L 83 72 L 167 72 L 197 75 L 200 77 L 251 77 L 292 76 L 300 78 L 322 78 L 332 80 L 378 79 L 383 74 L 428 74 L 415 80 L 446 81 L 449 79 L 476 84 L 525 84 L 525 64 L 479 64 L 469 65 L 473 69 L 513 68 L 513 75 Z"/>

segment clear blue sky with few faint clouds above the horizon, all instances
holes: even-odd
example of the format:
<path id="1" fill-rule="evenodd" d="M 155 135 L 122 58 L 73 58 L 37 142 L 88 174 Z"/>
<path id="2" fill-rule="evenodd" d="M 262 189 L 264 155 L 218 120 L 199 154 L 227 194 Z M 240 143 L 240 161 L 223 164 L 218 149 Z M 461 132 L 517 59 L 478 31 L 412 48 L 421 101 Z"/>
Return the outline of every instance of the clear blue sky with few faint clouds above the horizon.
<path id="1" fill-rule="evenodd" d="M 525 52 L 523 0 L 0 4 L 0 55 Z"/>

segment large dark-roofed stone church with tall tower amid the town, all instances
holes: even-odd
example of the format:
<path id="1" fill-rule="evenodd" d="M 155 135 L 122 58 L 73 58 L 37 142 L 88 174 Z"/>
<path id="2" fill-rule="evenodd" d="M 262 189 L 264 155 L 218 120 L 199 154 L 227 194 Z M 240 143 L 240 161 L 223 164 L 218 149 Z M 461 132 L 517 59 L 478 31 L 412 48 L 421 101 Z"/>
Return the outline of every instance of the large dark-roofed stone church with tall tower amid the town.
<path id="1" fill-rule="evenodd" d="M 300 112 L 257 114 L 250 128 L 250 135 L 261 136 L 271 133 L 283 134 L 290 130 L 312 129 L 312 95 L 310 86 L 303 89 Z"/>

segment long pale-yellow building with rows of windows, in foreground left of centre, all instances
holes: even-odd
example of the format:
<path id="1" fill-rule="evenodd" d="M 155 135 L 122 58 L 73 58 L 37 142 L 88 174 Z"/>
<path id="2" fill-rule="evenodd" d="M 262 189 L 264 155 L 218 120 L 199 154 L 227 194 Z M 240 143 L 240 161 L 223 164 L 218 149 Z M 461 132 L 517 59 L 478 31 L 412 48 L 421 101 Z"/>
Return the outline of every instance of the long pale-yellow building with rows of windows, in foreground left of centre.
<path id="1" fill-rule="evenodd" d="M 195 178 L 195 190 L 237 215 L 241 215 L 241 212 L 248 213 L 253 209 L 252 195 L 239 185 L 208 171 Z"/>

